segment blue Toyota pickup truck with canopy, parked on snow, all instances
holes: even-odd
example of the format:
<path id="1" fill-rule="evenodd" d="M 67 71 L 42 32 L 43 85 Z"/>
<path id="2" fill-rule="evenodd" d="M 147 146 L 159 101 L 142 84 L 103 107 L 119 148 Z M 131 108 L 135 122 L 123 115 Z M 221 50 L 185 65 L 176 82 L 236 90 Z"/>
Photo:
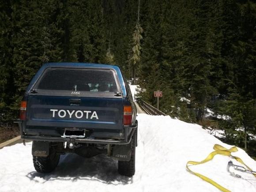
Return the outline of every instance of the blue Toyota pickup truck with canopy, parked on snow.
<path id="1" fill-rule="evenodd" d="M 136 107 L 120 68 L 107 64 L 44 64 L 20 108 L 22 139 L 33 140 L 34 168 L 53 171 L 60 155 L 118 160 L 121 175 L 135 173 Z"/>

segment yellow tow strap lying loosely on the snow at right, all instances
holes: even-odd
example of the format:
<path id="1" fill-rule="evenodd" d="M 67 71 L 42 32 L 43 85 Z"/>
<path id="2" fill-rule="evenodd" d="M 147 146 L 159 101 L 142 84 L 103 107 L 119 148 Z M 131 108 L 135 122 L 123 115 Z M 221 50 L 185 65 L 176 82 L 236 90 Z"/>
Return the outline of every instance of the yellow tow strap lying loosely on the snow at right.
<path id="1" fill-rule="evenodd" d="M 203 179 L 204 181 L 207 181 L 208 183 L 214 185 L 216 188 L 220 189 L 221 191 L 223 191 L 223 192 L 230 192 L 230 190 L 228 190 L 228 189 L 222 187 L 220 184 L 216 183 L 215 181 L 211 180 L 210 178 L 205 177 L 205 176 L 201 175 L 200 173 L 193 172 L 191 169 L 188 168 L 189 166 L 192 166 L 192 165 L 198 165 L 198 164 L 202 164 L 202 163 L 208 162 L 208 161 L 210 161 L 212 158 L 214 158 L 214 156 L 215 156 L 216 154 L 222 154 L 222 155 L 226 155 L 226 156 L 229 156 L 229 157 L 231 157 L 231 158 L 236 159 L 238 162 L 240 162 L 240 163 L 242 163 L 244 166 L 246 166 L 247 169 L 249 169 L 250 171 L 252 171 L 252 169 L 251 169 L 250 167 L 248 167 L 247 165 L 245 165 L 245 163 L 241 160 L 241 158 L 235 157 L 235 156 L 231 155 L 232 152 L 237 152 L 237 151 L 238 151 L 238 150 L 237 150 L 237 147 L 231 147 L 230 149 L 227 149 L 227 148 L 225 148 L 225 147 L 222 147 L 221 145 L 215 144 L 214 147 L 213 147 L 213 149 L 214 149 L 215 151 L 211 152 L 211 153 L 207 156 L 207 158 L 205 158 L 203 161 L 201 161 L 201 162 L 194 162 L 194 161 L 189 161 L 189 162 L 187 162 L 187 166 L 186 166 L 186 167 L 187 167 L 187 170 L 188 170 L 190 173 L 196 175 L 197 177 L 200 177 L 200 178 Z M 256 177 L 256 174 L 253 174 L 253 175 Z"/>

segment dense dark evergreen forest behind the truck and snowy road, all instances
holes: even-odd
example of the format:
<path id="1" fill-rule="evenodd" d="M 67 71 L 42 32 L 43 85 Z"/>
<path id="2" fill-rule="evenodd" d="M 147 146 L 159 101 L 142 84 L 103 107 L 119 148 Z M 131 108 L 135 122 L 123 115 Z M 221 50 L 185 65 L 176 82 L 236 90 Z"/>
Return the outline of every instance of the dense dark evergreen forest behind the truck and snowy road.
<path id="1" fill-rule="evenodd" d="M 253 146 L 254 1 L 0 0 L 1 126 L 19 117 L 30 79 L 47 62 L 118 65 L 139 84 L 139 99 L 156 106 L 162 90 L 164 113 Z"/>

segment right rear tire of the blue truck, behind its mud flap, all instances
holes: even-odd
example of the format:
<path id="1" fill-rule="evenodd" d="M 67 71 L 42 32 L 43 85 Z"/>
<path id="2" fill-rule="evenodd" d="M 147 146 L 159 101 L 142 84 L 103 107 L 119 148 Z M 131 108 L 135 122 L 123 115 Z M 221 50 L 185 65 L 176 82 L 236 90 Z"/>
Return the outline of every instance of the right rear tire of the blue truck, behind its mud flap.
<path id="1" fill-rule="evenodd" d="M 135 149 L 136 149 L 136 134 L 132 136 L 132 153 L 130 161 L 118 161 L 118 172 L 120 175 L 132 177 L 135 173 Z"/>

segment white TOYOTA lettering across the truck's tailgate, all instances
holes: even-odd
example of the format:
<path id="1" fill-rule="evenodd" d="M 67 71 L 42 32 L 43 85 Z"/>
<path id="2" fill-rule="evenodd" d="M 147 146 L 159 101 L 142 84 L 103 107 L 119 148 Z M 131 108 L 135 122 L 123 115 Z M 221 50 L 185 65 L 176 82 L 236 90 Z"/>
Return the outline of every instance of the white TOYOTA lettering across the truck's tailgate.
<path id="1" fill-rule="evenodd" d="M 81 119 L 81 118 L 83 118 L 84 113 L 85 113 L 85 118 L 89 119 L 89 114 L 92 113 L 90 115 L 90 119 L 93 119 L 93 118 L 99 119 L 96 111 L 93 111 L 93 112 L 92 111 L 80 111 L 80 110 L 78 110 L 78 111 L 72 110 L 71 111 L 71 110 L 64 110 L 64 109 L 60 109 L 60 110 L 50 109 L 50 111 L 53 112 L 53 117 L 55 117 L 55 113 L 56 113 L 58 115 L 58 117 L 60 117 L 60 118 L 64 118 L 68 115 L 69 118 L 72 118 L 75 116 L 76 118 Z"/>

